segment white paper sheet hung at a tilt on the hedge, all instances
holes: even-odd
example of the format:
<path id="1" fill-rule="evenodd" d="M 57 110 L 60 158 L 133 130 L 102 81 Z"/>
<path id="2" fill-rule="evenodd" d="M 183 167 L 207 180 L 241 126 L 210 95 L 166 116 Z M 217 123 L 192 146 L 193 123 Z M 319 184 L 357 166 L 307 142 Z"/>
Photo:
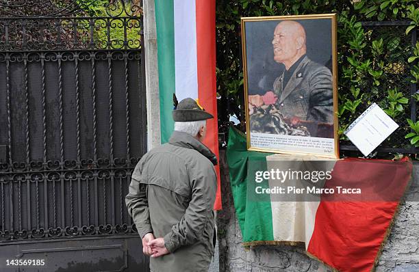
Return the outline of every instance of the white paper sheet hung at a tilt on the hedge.
<path id="1" fill-rule="evenodd" d="M 348 126 L 344 134 L 364 156 L 368 156 L 396 128 L 398 128 L 398 124 L 379 105 L 373 103 L 357 120 Z"/>

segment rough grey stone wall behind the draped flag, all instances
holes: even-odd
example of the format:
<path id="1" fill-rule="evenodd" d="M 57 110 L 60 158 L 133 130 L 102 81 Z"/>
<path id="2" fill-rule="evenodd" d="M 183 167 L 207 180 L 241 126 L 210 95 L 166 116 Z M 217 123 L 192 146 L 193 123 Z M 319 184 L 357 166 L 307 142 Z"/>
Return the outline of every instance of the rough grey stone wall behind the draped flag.
<path id="1" fill-rule="evenodd" d="M 304 247 L 257 246 L 244 249 L 236 219 L 225 161 L 220 152 L 223 210 L 217 214 L 220 271 L 332 271 L 327 265 L 305 255 Z M 401 205 L 383 248 L 377 271 L 419 271 L 419 164 L 414 165 L 414 181 Z"/>

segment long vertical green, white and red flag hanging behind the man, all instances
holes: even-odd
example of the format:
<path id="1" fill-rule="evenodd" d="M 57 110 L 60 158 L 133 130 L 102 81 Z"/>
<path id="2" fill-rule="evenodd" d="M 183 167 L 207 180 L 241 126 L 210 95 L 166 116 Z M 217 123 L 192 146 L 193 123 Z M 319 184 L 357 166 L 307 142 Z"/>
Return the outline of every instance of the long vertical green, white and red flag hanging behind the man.
<path id="1" fill-rule="evenodd" d="M 214 115 L 204 144 L 218 157 L 215 0 L 155 0 L 162 143 L 173 132 L 173 93 L 177 100 L 199 99 Z M 214 208 L 221 208 L 220 174 Z"/>

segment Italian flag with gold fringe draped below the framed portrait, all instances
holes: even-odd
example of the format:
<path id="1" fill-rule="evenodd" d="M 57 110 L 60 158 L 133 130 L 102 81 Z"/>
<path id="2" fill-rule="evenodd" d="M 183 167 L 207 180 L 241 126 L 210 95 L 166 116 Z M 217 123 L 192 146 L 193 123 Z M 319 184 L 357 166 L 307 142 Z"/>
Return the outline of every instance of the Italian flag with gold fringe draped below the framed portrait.
<path id="1" fill-rule="evenodd" d="M 279 158 L 247 151 L 245 136 L 230 128 L 227 162 L 244 245 L 301 244 L 338 271 L 371 271 L 411 161 Z"/>

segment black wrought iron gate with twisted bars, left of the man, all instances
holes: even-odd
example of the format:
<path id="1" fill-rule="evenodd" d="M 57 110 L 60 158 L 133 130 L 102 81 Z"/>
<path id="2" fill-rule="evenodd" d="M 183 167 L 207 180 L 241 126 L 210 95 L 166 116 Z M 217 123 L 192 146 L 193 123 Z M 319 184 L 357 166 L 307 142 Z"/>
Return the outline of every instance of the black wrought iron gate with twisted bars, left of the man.
<path id="1" fill-rule="evenodd" d="M 0 1 L 0 271 L 148 271 L 141 6 L 98 3 Z"/>

